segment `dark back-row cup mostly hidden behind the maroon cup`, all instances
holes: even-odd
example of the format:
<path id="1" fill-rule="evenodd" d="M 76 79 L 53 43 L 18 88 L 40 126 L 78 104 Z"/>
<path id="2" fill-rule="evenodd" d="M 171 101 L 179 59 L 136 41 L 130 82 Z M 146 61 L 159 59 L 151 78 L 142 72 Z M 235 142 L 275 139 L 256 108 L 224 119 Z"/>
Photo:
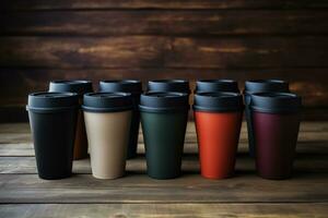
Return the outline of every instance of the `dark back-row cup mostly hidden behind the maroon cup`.
<path id="1" fill-rule="evenodd" d="M 255 93 L 289 93 L 289 83 L 280 80 L 254 80 L 246 81 L 244 89 L 245 117 L 247 121 L 249 155 L 255 156 L 254 128 L 251 124 L 250 96 Z"/>

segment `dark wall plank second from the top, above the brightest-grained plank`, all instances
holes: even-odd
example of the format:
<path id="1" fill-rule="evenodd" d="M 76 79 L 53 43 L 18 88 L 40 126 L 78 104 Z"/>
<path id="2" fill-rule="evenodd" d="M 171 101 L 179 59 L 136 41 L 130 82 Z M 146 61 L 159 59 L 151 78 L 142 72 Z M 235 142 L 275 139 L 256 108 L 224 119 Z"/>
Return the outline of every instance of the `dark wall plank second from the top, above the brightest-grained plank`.
<path id="1" fill-rule="evenodd" d="M 40 11 L 3 12 L 2 35 L 327 34 L 326 11 Z"/>

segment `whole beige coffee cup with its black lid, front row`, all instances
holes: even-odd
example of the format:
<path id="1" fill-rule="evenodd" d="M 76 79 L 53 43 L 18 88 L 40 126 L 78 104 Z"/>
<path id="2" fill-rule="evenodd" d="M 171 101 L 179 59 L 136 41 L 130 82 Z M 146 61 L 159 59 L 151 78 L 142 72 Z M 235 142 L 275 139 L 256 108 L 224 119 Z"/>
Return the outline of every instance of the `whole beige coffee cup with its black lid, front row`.
<path id="1" fill-rule="evenodd" d="M 97 179 L 122 177 L 133 109 L 131 94 L 85 94 L 82 109 L 93 177 Z"/>

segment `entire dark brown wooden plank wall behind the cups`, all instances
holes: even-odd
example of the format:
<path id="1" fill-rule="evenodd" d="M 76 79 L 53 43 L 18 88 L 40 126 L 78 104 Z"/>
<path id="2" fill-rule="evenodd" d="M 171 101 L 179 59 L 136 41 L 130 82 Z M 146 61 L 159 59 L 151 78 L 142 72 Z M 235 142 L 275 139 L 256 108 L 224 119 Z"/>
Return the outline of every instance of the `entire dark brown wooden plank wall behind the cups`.
<path id="1" fill-rule="evenodd" d="M 0 121 L 26 120 L 27 94 L 59 78 L 282 78 L 306 108 L 328 106 L 327 1 L 3 0 L 0 12 Z"/>

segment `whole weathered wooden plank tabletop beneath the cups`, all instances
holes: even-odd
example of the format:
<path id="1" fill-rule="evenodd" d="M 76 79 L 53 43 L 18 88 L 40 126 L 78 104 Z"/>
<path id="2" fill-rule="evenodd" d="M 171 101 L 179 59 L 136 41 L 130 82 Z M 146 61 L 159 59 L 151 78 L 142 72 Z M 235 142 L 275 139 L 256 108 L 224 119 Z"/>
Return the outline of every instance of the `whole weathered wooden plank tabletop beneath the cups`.
<path id="1" fill-rule="evenodd" d="M 302 123 L 294 174 L 284 181 L 256 174 L 246 134 L 243 123 L 231 179 L 199 175 L 188 123 L 180 178 L 147 175 L 140 134 L 140 155 L 127 161 L 126 177 L 94 179 L 84 159 L 74 161 L 71 178 L 46 181 L 36 173 L 28 124 L 0 124 L 0 217 L 328 217 L 328 122 Z"/>

